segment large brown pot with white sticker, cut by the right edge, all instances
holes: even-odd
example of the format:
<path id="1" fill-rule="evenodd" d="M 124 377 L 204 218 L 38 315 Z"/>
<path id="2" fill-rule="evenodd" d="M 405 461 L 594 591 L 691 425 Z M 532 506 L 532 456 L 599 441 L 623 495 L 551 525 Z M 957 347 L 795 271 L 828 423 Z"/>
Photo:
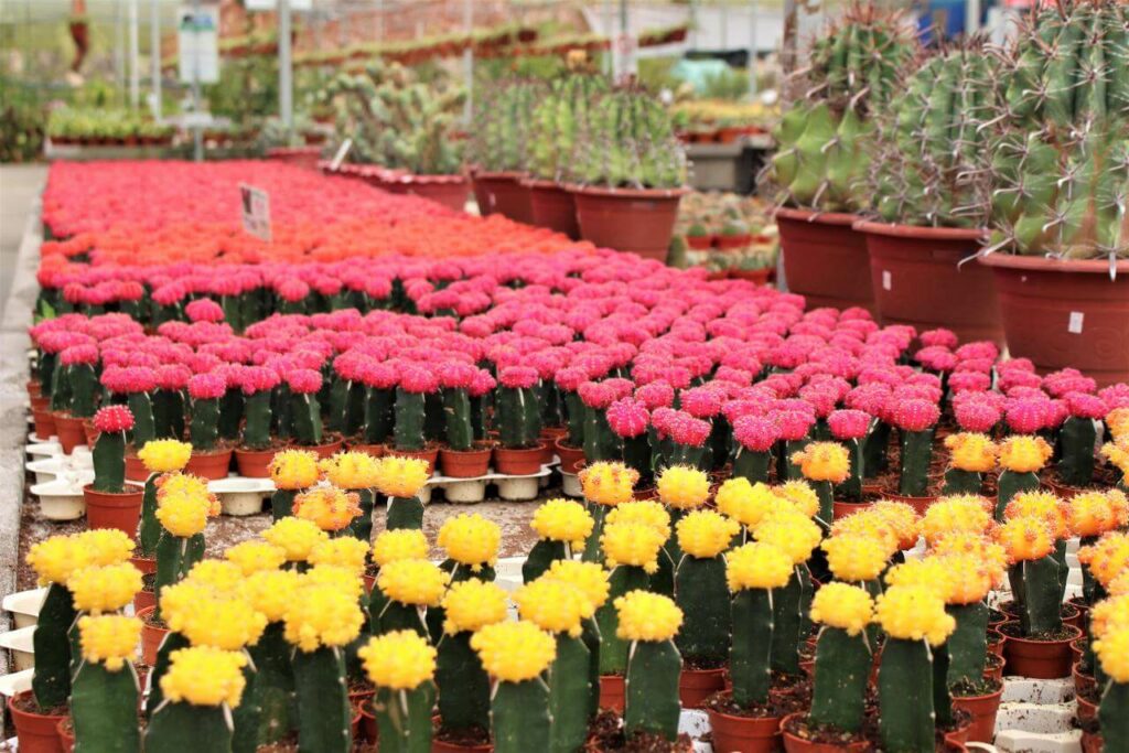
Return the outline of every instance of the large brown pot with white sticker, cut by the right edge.
<path id="1" fill-rule="evenodd" d="M 1067 366 L 1099 386 L 1129 380 L 1129 260 L 1056 261 L 989 254 L 1000 318 L 1013 358 L 1041 373 Z"/>

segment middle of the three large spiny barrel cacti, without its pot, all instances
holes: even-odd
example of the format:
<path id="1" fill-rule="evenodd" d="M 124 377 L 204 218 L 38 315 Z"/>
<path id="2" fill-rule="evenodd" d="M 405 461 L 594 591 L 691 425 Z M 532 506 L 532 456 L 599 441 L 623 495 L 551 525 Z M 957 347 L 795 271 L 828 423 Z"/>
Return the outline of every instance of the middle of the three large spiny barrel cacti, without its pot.
<path id="1" fill-rule="evenodd" d="M 927 59 L 881 119 L 872 170 L 875 209 L 901 225 L 982 227 L 996 59 L 977 40 Z"/>

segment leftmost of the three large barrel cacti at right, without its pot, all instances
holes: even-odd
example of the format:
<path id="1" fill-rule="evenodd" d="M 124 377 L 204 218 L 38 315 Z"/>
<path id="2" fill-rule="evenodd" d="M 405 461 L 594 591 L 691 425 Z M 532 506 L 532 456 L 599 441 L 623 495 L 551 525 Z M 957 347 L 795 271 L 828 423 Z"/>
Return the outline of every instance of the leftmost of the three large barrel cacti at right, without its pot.
<path id="1" fill-rule="evenodd" d="M 817 38 L 791 81 L 796 96 L 774 131 L 769 177 L 795 207 L 855 211 L 869 204 L 873 113 L 890 100 L 917 41 L 900 14 L 850 7 Z"/>

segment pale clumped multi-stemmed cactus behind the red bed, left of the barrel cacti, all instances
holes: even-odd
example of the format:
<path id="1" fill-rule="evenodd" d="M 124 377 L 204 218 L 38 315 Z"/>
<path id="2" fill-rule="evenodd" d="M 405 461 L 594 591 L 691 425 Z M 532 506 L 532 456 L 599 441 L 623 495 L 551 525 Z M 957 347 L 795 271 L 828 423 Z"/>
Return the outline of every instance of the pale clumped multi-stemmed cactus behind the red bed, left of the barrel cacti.
<path id="1" fill-rule="evenodd" d="M 450 132 L 465 93 L 419 81 L 411 69 L 374 60 L 357 75 L 341 73 L 326 90 L 338 113 L 338 133 L 351 138 L 350 161 L 449 175 L 462 164 Z"/>

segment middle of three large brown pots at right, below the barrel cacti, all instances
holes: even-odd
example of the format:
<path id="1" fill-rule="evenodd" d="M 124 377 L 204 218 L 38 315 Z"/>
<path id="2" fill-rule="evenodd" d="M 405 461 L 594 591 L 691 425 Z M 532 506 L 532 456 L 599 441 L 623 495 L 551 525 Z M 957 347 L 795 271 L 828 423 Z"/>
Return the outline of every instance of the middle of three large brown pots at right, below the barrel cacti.
<path id="1" fill-rule="evenodd" d="M 980 249 L 983 230 L 865 220 L 855 229 L 866 237 L 870 288 L 883 324 L 947 327 L 962 342 L 1003 344 L 995 280 L 970 259 Z"/>

